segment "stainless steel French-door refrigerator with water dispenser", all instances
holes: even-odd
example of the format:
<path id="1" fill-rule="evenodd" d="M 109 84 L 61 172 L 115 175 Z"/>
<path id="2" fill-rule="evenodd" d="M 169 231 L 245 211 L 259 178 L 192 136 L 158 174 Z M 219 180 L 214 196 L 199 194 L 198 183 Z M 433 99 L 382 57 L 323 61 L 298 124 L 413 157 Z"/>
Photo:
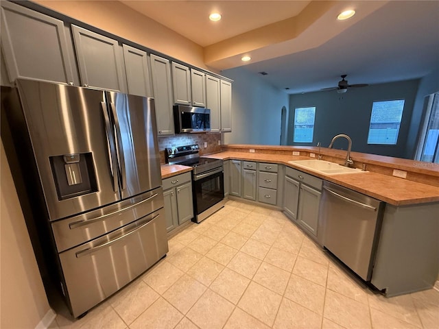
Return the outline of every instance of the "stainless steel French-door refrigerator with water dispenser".
<path id="1" fill-rule="evenodd" d="M 47 224 L 40 241 L 78 317 L 168 251 L 154 99 L 32 80 L 16 90 L 12 136 L 30 162 L 26 197 L 41 199 L 32 220 Z"/>

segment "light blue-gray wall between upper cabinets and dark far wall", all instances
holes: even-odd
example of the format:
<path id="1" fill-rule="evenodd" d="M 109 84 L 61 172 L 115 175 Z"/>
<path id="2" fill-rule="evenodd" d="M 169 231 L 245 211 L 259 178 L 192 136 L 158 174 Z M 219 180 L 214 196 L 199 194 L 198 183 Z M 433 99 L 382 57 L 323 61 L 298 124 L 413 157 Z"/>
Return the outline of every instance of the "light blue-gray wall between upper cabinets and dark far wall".
<path id="1" fill-rule="evenodd" d="M 279 145 L 282 107 L 288 109 L 288 95 L 243 68 L 221 72 L 233 79 L 232 132 L 225 144 Z"/>

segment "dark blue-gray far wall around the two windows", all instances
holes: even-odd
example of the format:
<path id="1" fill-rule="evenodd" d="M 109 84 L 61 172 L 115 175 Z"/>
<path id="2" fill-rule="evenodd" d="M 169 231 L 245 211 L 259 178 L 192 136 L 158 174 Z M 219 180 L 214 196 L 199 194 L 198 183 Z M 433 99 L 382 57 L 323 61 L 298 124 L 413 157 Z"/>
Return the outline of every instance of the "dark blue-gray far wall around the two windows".
<path id="1" fill-rule="evenodd" d="M 353 151 L 402 158 L 406 153 L 418 84 L 419 80 L 408 80 L 351 88 L 345 94 L 337 94 L 333 90 L 290 95 L 287 144 L 316 145 L 320 142 L 322 147 L 328 147 L 336 134 L 348 134 L 353 141 Z M 405 99 L 398 141 L 396 145 L 368 145 L 372 103 L 390 99 Z M 293 143 L 294 108 L 307 106 L 316 106 L 313 143 Z M 347 143 L 339 140 L 334 147 L 346 149 Z"/>

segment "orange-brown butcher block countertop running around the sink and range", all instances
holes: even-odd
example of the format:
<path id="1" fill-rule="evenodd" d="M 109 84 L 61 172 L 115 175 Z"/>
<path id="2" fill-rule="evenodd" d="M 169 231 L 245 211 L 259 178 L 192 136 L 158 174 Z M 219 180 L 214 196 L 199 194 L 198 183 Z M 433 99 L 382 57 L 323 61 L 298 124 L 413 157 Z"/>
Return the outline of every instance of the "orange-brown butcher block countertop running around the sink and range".
<path id="1" fill-rule="evenodd" d="M 376 199 L 394 206 L 439 202 L 439 187 L 437 186 L 412 182 L 403 178 L 396 178 L 391 175 L 383 175 L 371 171 L 324 175 L 289 163 L 289 161 L 293 160 L 309 160 L 308 156 L 248 153 L 240 151 L 222 151 L 216 154 L 204 154 L 203 156 L 221 160 L 246 160 L 284 164 L 285 166 L 298 169 L 329 182 L 339 184 L 346 188 L 351 188 L 354 191 L 366 194 L 370 197 L 375 197 Z M 191 167 L 181 165 L 161 165 L 162 178 L 168 178 L 172 175 L 185 173 L 191 170 Z M 431 179 L 437 180 L 438 178 L 435 177 L 435 175 L 432 175 Z"/>

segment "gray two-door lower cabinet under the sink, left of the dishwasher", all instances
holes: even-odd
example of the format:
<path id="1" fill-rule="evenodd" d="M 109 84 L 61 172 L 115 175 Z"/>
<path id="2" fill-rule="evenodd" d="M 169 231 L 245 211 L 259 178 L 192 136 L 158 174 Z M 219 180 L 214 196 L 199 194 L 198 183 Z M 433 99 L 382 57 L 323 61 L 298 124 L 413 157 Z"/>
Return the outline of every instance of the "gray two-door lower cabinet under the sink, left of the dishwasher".
<path id="1" fill-rule="evenodd" d="M 316 239 L 319 238 L 318 210 L 322 184 L 323 180 L 313 175 L 289 167 L 285 169 L 284 212 Z"/>

